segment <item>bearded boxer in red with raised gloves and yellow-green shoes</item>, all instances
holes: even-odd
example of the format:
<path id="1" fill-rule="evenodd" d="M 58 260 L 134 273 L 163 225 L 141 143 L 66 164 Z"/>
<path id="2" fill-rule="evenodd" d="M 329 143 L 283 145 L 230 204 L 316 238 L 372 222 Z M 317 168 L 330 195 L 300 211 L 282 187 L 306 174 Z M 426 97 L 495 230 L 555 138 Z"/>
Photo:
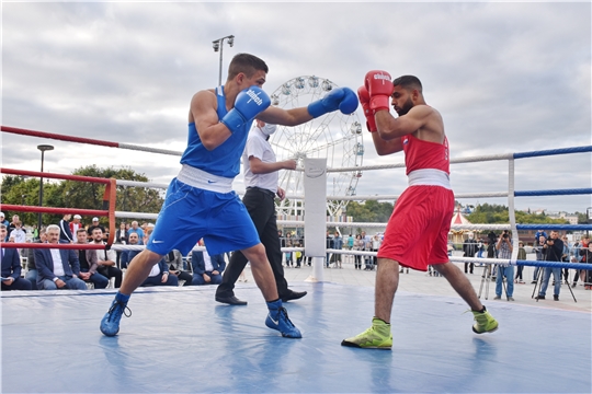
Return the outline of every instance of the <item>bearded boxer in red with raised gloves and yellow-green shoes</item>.
<path id="1" fill-rule="evenodd" d="M 420 80 L 403 76 L 391 82 L 386 71 L 366 73 L 357 90 L 379 155 L 405 151 L 409 187 L 397 200 L 385 240 L 378 250 L 378 270 L 372 327 L 341 345 L 358 348 L 392 347 L 390 313 L 399 285 L 399 266 L 428 270 L 433 265 L 470 306 L 477 334 L 498 329 L 467 277 L 448 260 L 447 234 L 454 211 L 448 141 L 440 113 L 425 104 Z M 399 115 L 389 112 L 389 97 Z"/>

